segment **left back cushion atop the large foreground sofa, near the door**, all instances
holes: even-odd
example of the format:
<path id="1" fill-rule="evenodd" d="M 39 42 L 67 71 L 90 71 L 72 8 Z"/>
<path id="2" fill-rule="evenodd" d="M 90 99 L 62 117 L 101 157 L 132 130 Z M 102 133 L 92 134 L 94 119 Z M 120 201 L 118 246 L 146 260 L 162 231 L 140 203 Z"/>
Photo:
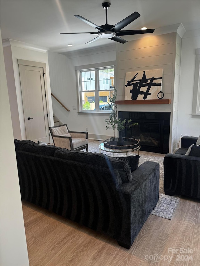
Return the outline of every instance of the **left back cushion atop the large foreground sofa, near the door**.
<path id="1" fill-rule="evenodd" d="M 17 150 L 24 151 L 24 152 L 38 153 L 38 154 L 47 155 L 47 156 L 53 156 L 56 150 L 61 149 L 53 145 L 38 145 L 37 143 L 31 140 L 15 139 L 14 143 L 15 143 L 15 149 Z"/>

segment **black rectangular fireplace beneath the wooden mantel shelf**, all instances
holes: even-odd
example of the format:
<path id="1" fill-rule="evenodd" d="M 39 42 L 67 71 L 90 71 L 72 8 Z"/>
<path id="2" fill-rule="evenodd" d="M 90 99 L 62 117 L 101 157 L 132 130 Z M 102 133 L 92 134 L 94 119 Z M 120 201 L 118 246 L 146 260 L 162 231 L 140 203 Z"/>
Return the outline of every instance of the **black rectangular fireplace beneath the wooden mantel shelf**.
<path id="1" fill-rule="evenodd" d="M 170 112 L 119 112 L 119 118 L 138 125 L 126 127 L 124 137 L 140 139 L 141 151 L 169 152 Z"/>

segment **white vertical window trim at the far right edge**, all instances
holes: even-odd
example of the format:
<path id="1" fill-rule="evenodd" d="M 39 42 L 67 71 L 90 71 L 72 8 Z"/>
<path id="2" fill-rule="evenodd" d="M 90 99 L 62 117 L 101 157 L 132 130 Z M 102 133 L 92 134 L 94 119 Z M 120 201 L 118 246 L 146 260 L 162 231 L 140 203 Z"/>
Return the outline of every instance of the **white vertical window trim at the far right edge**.
<path id="1" fill-rule="evenodd" d="M 194 72 L 194 89 L 192 101 L 192 115 L 200 115 L 200 48 L 195 49 L 195 72 Z"/>

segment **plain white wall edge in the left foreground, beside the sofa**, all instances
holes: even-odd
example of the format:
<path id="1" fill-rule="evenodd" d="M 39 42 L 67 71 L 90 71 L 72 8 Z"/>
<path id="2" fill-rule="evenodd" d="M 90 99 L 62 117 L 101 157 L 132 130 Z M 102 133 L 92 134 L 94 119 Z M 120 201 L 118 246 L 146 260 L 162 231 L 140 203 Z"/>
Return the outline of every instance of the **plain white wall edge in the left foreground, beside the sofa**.
<path id="1" fill-rule="evenodd" d="M 2 266 L 29 265 L 1 41 L 0 184 Z"/>

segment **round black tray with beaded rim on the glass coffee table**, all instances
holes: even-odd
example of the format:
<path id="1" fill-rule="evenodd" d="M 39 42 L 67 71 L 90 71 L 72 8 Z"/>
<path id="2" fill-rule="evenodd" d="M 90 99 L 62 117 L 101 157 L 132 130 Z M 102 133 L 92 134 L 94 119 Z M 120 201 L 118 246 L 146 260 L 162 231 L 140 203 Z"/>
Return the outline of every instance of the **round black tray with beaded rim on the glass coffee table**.
<path id="1" fill-rule="evenodd" d="M 123 145 L 117 145 L 118 138 L 108 138 L 104 141 L 103 146 L 114 150 L 131 150 L 139 147 L 139 139 L 123 138 Z"/>

